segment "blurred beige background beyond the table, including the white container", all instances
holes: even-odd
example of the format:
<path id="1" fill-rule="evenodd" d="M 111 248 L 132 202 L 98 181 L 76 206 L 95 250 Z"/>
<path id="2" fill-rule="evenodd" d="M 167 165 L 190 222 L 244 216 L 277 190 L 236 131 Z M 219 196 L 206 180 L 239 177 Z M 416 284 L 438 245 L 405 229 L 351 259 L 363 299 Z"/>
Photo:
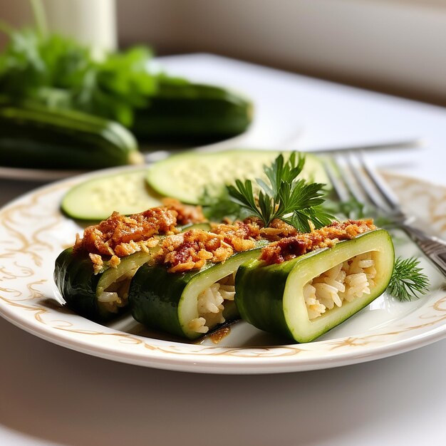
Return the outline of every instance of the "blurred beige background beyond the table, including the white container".
<path id="1" fill-rule="evenodd" d="M 446 0 L 45 0 L 50 26 L 105 48 L 217 53 L 446 105 Z M 27 0 L 0 17 L 31 23 Z M 4 45 L 5 40 L 1 40 Z"/>

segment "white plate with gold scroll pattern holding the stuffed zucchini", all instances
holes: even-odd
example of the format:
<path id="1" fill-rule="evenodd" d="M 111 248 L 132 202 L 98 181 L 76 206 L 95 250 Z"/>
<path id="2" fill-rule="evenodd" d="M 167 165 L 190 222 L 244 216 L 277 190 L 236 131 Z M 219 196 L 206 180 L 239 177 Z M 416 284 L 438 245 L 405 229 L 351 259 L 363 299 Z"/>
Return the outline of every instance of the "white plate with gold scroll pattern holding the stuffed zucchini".
<path id="1" fill-rule="evenodd" d="M 126 168 L 129 169 L 129 168 Z M 115 171 L 123 168 L 114 169 Z M 81 228 L 59 211 L 63 194 L 94 172 L 35 190 L 0 211 L 0 313 L 26 331 L 61 346 L 114 361 L 200 373 L 281 373 L 330 368 L 395 355 L 446 336 L 445 281 L 426 259 L 430 294 L 401 304 L 385 294 L 318 341 L 289 344 L 236 323 L 219 343 L 185 343 L 144 331 L 130 317 L 93 323 L 56 302 L 53 265 Z M 445 232 L 445 190 L 388 175 L 403 203 Z M 398 235 L 397 249 L 418 254 Z"/>

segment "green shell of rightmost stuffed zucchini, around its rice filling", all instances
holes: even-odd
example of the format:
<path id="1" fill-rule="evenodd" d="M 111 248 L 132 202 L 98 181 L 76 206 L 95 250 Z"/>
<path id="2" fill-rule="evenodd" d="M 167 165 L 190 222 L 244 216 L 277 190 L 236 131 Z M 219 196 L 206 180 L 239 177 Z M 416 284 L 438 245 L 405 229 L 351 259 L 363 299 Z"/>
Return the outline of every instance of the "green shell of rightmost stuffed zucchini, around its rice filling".
<path id="1" fill-rule="evenodd" d="M 357 256 L 365 253 L 370 253 L 376 269 L 369 286 L 370 294 L 343 299 L 341 306 L 321 300 L 328 306 L 325 312 L 318 308 L 321 315 L 317 316 L 309 300 L 311 289 L 308 286 L 316 281 L 329 282 L 327 276 L 330 277 L 331 272 L 326 272 L 325 276 L 321 274 L 336 271 L 343 262 L 354 257 L 360 259 Z M 235 303 L 242 319 L 261 330 L 287 336 L 299 343 L 313 341 L 383 294 L 392 275 L 393 261 L 392 239 L 383 229 L 365 232 L 355 239 L 338 242 L 333 248 L 312 251 L 281 264 L 265 266 L 262 261 L 251 260 L 237 271 Z M 346 281 L 348 283 L 354 284 L 354 281 Z"/>

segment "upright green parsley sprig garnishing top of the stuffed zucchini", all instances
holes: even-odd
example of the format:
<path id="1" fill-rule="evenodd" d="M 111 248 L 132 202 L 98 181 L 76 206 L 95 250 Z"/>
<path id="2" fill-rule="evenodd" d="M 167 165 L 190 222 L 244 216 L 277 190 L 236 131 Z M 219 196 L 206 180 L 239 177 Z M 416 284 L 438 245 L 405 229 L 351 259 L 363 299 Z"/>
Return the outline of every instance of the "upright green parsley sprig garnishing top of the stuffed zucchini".
<path id="1" fill-rule="evenodd" d="M 229 197 L 259 217 L 265 226 L 276 218 L 292 224 L 300 232 L 311 232 L 311 226 L 326 226 L 334 217 L 321 206 L 325 185 L 297 179 L 304 163 L 304 155 L 296 152 L 286 162 L 279 155 L 271 166 L 264 167 L 269 184 L 256 178 L 254 187 L 251 180 L 236 180 L 235 186 L 227 186 Z"/>

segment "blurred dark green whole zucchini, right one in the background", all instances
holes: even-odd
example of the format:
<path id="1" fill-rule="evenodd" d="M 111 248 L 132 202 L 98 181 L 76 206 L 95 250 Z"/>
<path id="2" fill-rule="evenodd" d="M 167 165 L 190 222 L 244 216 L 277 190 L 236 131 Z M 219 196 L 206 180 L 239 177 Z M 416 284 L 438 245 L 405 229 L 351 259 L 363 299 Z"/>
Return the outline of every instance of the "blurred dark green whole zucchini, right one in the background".
<path id="1" fill-rule="evenodd" d="M 208 144 L 247 130 L 250 100 L 225 88 L 162 78 L 131 130 L 142 144 Z"/>

